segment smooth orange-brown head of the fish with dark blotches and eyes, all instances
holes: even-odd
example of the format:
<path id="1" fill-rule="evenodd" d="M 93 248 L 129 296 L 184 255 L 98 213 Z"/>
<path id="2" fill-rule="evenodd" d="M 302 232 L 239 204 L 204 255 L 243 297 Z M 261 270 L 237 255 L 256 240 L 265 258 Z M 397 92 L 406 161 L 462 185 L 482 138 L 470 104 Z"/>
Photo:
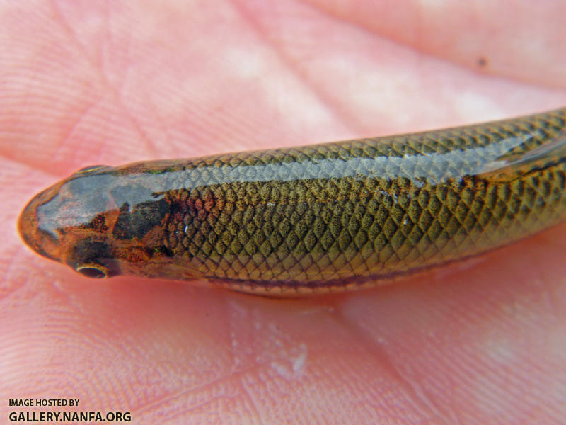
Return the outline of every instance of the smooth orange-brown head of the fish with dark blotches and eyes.
<path id="1" fill-rule="evenodd" d="M 168 214 L 166 199 L 147 187 L 152 184 L 106 166 L 81 169 L 30 200 L 18 230 L 38 254 L 82 276 L 143 270 L 164 252 L 160 229 Z"/>

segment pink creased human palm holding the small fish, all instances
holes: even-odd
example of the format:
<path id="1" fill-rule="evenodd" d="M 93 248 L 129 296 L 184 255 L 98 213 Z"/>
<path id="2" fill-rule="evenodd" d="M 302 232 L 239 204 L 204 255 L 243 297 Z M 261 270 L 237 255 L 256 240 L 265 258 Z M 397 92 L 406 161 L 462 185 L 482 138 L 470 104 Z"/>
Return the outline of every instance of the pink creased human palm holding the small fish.
<path id="1" fill-rule="evenodd" d="M 563 423 L 566 225 L 299 300 L 89 280 L 15 230 L 37 191 L 91 164 L 566 104 L 565 4 L 504 5 L 1 2 L 0 418 L 8 398 L 72 397 L 139 424 Z"/>

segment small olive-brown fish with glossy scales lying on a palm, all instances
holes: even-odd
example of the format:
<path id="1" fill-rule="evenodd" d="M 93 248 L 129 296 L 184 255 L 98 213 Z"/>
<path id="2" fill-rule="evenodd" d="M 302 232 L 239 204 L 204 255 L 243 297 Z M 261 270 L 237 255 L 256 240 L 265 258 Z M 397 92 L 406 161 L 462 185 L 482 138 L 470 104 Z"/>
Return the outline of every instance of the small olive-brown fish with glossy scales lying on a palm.
<path id="1" fill-rule="evenodd" d="M 566 217 L 566 108 L 301 147 L 88 166 L 38 193 L 25 244 L 89 278 L 333 293 Z"/>

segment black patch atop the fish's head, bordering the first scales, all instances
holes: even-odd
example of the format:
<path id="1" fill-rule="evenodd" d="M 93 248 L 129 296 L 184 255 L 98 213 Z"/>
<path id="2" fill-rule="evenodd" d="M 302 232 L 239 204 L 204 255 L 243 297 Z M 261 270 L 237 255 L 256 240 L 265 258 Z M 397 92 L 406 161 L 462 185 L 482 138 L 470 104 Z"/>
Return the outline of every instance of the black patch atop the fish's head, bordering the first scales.
<path id="1" fill-rule="evenodd" d="M 165 199 L 139 203 L 131 211 L 126 203 L 120 208 L 112 234 L 117 239 L 141 239 L 161 224 L 168 211 L 169 204 Z"/>

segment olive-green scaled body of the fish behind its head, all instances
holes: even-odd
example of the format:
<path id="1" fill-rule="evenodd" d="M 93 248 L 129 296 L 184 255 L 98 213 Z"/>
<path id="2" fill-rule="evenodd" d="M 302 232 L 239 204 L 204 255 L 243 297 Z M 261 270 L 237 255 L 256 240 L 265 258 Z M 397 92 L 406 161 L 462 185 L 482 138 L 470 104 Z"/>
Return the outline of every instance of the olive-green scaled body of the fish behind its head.
<path id="1" fill-rule="evenodd" d="M 169 166 L 164 244 L 209 278 L 337 285 L 507 244 L 566 215 L 566 110 Z"/>

